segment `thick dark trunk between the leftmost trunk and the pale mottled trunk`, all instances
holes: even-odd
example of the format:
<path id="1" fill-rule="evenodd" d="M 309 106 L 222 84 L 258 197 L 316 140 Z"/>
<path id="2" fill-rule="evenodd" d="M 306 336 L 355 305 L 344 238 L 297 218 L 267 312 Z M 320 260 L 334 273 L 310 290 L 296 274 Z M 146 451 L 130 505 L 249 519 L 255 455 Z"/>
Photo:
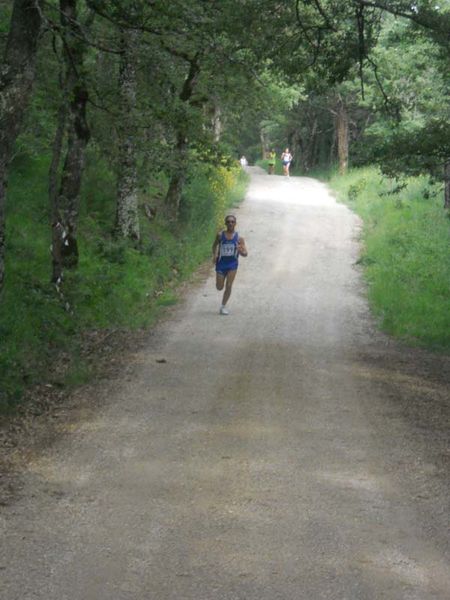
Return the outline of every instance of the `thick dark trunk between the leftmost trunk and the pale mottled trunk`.
<path id="1" fill-rule="evenodd" d="M 67 102 L 67 151 L 52 222 L 52 281 L 60 281 L 65 268 L 78 265 L 77 226 L 85 150 L 90 132 L 86 121 L 88 92 L 84 81 L 85 42 L 77 22 L 77 0 L 60 0 L 63 31 L 64 101 Z"/>

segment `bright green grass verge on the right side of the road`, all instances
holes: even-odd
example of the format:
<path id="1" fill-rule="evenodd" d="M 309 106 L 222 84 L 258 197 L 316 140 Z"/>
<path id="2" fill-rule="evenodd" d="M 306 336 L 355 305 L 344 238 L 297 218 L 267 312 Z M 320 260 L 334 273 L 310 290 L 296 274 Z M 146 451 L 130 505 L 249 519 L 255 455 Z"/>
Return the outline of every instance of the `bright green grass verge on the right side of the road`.
<path id="1" fill-rule="evenodd" d="M 450 351 L 450 221 L 441 186 L 399 182 L 373 168 L 330 185 L 364 220 L 361 263 L 382 327 L 408 343 Z"/>

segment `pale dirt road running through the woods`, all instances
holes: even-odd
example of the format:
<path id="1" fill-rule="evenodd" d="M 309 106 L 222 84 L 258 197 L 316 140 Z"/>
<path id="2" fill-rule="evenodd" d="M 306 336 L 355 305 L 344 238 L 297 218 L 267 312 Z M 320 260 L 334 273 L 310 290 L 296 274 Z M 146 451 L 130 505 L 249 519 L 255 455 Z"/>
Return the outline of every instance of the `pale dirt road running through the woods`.
<path id="1" fill-rule="evenodd" d="M 2 599 L 450 598 L 448 358 L 376 333 L 322 184 L 253 169 L 236 214 L 231 314 L 211 272 L 30 460 Z"/>

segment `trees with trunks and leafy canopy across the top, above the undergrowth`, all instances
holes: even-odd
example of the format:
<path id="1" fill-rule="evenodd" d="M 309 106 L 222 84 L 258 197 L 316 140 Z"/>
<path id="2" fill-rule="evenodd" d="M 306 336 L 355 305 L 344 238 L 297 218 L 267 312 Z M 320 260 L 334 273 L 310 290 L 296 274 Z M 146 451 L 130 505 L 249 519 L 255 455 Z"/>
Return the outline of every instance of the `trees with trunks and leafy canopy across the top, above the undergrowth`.
<path id="1" fill-rule="evenodd" d="M 194 164 L 286 144 L 304 171 L 377 162 L 448 191 L 448 0 L 15 0 L 0 24 L 0 285 L 8 165 L 49 147 L 54 281 L 78 263 L 88 159 L 130 240 L 158 173 L 176 221 Z"/>

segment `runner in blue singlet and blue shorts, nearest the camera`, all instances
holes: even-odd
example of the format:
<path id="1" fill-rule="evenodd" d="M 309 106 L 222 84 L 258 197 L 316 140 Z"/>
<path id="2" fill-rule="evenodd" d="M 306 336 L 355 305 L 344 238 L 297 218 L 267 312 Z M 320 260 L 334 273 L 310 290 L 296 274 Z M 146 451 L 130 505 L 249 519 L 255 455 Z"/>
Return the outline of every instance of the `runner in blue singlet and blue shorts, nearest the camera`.
<path id="1" fill-rule="evenodd" d="M 225 286 L 219 314 L 228 315 L 225 308 L 231 295 L 234 278 L 236 277 L 239 255 L 247 256 L 244 238 L 241 238 L 236 227 L 236 217 L 225 217 L 226 229 L 220 231 L 212 247 L 213 262 L 216 265 L 216 288 L 221 291 Z"/>

